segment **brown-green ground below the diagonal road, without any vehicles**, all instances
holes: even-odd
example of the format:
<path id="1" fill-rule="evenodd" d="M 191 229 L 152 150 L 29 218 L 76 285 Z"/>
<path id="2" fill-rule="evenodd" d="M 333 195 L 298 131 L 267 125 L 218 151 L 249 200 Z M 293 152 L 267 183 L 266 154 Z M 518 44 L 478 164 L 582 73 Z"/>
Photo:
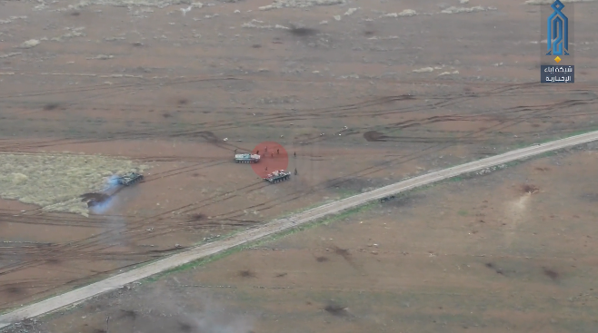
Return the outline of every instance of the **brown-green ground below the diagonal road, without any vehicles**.
<path id="1" fill-rule="evenodd" d="M 10 332 L 595 332 L 596 159 L 447 181 Z"/>

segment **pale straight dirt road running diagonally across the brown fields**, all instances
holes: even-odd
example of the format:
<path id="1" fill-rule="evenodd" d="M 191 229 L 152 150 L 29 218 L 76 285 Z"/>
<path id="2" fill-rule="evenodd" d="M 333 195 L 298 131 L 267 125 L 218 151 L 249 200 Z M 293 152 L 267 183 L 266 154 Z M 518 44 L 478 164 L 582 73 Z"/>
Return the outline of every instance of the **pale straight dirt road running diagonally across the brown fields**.
<path id="1" fill-rule="evenodd" d="M 294 228 L 300 224 L 320 219 L 326 215 L 331 215 L 340 211 L 357 207 L 359 205 L 363 205 L 368 201 L 374 201 L 398 192 L 412 190 L 416 187 L 431 184 L 435 181 L 442 181 L 463 173 L 477 171 L 506 162 L 521 160 L 523 158 L 538 155 L 543 152 L 551 152 L 596 140 L 598 140 L 598 132 L 590 132 L 554 142 L 534 145 L 513 152 L 506 152 L 501 155 L 493 156 L 483 160 L 465 163 L 442 171 L 434 171 L 409 180 L 400 181 L 393 185 L 385 186 L 374 191 L 358 194 L 341 201 L 334 201 L 312 210 L 295 214 L 289 218 L 273 220 L 267 224 L 264 224 L 264 226 L 261 228 L 246 230 L 225 240 L 214 241 L 213 243 L 197 246 L 191 250 L 176 254 L 164 260 L 158 260 L 144 267 L 132 269 L 112 278 L 95 282 L 91 285 L 69 291 L 63 295 L 58 295 L 51 299 L 45 299 L 41 302 L 25 306 L 21 309 L 15 309 L 12 312 L 0 316 L 0 328 L 5 328 L 24 318 L 40 316 L 45 313 L 55 311 L 56 309 L 61 309 L 65 306 L 81 302 L 85 299 L 90 299 L 99 294 L 105 293 L 106 291 L 121 288 L 122 286 L 134 282 L 135 280 L 145 279 L 165 270 L 174 269 L 177 266 L 181 266 L 194 260 L 202 259 L 223 250 L 229 250 L 235 246 L 262 239 L 274 233 Z"/>

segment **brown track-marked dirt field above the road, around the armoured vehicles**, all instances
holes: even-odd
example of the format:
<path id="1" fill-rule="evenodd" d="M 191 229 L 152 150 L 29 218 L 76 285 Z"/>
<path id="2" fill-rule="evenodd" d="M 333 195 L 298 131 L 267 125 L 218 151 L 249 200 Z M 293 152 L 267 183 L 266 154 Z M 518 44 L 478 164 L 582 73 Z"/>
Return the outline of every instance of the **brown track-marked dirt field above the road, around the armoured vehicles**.
<path id="1" fill-rule="evenodd" d="M 88 218 L 0 201 L 0 309 L 289 211 L 596 128 L 595 3 L 576 4 L 578 83 L 565 87 L 536 84 L 534 5 L 176 4 L 0 3 L 0 152 L 152 167 Z M 270 186 L 232 162 L 260 142 L 289 152 L 292 181 Z"/>

